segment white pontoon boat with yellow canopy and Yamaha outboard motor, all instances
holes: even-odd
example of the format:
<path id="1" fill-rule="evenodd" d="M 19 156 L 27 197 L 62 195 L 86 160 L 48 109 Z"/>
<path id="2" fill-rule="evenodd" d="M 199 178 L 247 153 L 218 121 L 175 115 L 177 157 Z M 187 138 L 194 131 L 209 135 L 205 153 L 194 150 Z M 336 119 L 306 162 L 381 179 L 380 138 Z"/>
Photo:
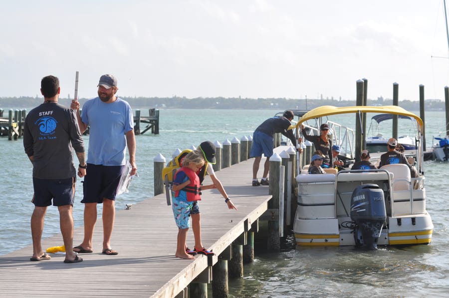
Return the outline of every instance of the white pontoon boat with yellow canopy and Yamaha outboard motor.
<path id="1" fill-rule="evenodd" d="M 296 245 L 376 249 L 377 245 L 430 244 L 434 225 L 426 210 L 422 119 L 398 106 L 321 106 L 305 113 L 296 128 L 306 121 L 314 126 L 328 116 L 348 113 L 390 113 L 416 122 L 418 175 L 411 178 L 405 164 L 373 170 L 346 168 L 335 174 L 302 171 L 296 176 Z"/>

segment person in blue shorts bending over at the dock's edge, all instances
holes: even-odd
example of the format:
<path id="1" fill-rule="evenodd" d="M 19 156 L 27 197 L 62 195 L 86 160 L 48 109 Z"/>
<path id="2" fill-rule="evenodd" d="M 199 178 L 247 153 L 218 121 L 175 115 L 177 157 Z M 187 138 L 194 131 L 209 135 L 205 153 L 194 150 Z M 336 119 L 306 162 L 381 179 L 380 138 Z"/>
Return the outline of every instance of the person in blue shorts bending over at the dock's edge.
<path id="1" fill-rule="evenodd" d="M 285 111 L 282 117 L 271 117 L 260 124 L 252 135 L 252 147 L 250 157 L 254 157 L 252 164 L 252 186 L 269 185 L 268 172 L 270 170 L 270 157 L 273 155 L 273 136 L 280 132 L 288 137 L 295 148 L 297 148 L 297 140 L 290 128 L 291 120 L 294 114 L 292 111 Z M 298 150 L 298 149 L 296 149 Z M 259 170 L 262 153 L 266 160 L 263 165 L 263 175 L 260 182 L 257 180 L 257 171 Z"/>

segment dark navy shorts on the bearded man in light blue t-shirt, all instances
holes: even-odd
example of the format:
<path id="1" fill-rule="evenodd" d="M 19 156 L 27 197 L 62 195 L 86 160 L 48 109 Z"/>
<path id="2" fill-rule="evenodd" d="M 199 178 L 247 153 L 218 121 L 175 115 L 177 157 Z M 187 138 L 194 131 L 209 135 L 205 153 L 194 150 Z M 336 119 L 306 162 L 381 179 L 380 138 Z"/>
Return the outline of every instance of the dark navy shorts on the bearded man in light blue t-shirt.
<path id="1" fill-rule="evenodd" d="M 103 198 L 115 201 L 124 167 L 87 164 L 81 203 L 101 204 Z"/>

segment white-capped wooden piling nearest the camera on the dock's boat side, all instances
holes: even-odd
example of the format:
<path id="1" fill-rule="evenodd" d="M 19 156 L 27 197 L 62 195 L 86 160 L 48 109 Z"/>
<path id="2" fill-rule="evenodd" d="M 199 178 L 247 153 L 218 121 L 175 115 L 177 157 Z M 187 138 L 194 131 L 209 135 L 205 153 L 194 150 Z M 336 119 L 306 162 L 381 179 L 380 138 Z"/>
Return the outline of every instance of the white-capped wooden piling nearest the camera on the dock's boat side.
<path id="1" fill-rule="evenodd" d="M 268 193 L 272 195 L 268 201 L 268 211 L 271 212 L 271 219 L 268 220 L 268 244 L 269 252 L 280 251 L 279 239 L 279 166 L 281 158 L 277 153 L 270 157 L 270 184 Z"/>

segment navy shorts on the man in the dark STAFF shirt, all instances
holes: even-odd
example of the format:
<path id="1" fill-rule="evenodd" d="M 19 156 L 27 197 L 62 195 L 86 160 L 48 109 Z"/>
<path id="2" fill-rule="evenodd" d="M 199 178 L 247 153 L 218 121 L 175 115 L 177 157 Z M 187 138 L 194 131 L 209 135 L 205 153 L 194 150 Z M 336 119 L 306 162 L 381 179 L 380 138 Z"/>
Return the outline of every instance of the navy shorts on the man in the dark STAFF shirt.
<path id="1" fill-rule="evenodd" d="M 67 179 L 33 178 L 34 195 L 32 203 L 36 207 L 73 205 L 76 177 Z"/>

